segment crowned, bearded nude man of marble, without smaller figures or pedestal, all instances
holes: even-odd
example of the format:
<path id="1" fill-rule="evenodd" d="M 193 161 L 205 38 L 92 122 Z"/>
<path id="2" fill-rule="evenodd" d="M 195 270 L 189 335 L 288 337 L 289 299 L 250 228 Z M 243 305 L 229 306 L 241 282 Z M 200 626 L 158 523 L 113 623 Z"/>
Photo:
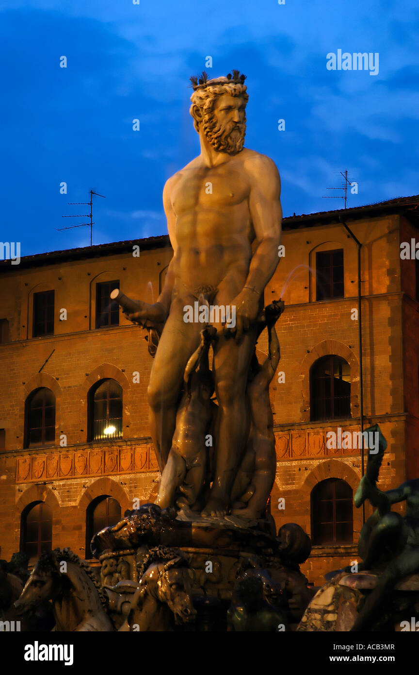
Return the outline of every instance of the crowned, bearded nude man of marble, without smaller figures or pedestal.
<path id="1" fill-rule="evenodd" d="M 246 387 L 263 292 L 278 264 L 282 210 L 280 175 L 269 157 L 244 147 L 245 76 L 191 78 L 191 115 L 201 153 L 168 179 L 164 210 L 173 257 L 156 303 L 130 302 L 131 321 L 160 340 L 148 400 L 152 438 L 163 471 L 173 445 L 185 368 L 199 347 L 202 324 L 185 308 L 203 294 L 218 308 L 235 308 L 235 325 L 212 321 L 216 416 L 215 475 L 203 516 L 223 517 L 245 452 Z M 114 292 L 115 293 L 115 292 Z M 115 296 L 114 296 L 115 297 Z M 121 302 L 123 305 L 123 302 Z M 155 335 L 156 335 L 155 333 Z"/>

